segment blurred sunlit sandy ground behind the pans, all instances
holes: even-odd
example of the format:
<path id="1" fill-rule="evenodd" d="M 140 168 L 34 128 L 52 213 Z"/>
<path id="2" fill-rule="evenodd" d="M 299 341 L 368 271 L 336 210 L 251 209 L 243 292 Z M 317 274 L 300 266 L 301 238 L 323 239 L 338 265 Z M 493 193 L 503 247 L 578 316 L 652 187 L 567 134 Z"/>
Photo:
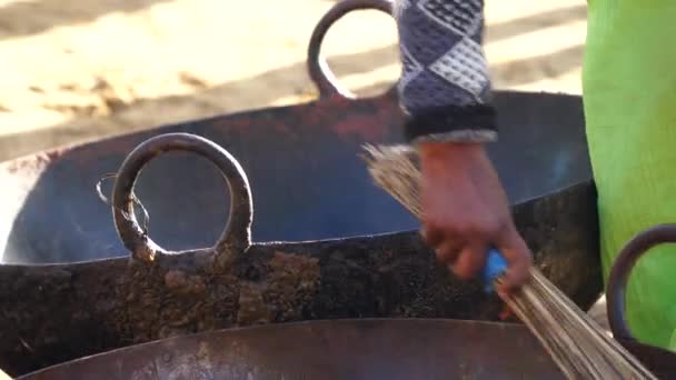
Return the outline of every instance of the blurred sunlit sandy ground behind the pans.
<path id="1" fill-rule="evenodd" d="M 305 60 L 328 0 L 0 0 L 0 160 L 316 97 Z M 585 0 L 486 0 L 495 87 L 580 93 Z M 351 12 L 324 53 L 375 96 L 399 76 L 394 21 Z"/>

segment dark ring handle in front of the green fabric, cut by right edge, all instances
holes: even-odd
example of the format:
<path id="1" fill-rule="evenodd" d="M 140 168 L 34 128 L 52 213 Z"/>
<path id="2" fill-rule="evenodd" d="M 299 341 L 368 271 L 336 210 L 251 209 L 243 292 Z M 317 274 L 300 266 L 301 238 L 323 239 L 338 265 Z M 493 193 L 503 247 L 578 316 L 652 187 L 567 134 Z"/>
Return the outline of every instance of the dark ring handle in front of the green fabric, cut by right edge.
<path id="1" fill-rule="evenodd" d="M 676 224 L 660 224 L 638 233 L 619 252 L 610 269 L 606 290 L 606 310 L 613 336 L 618 340 L 635 341 L 625 316 L 625 290 L 632 269 L 652 248 L 676 242 Z"/>

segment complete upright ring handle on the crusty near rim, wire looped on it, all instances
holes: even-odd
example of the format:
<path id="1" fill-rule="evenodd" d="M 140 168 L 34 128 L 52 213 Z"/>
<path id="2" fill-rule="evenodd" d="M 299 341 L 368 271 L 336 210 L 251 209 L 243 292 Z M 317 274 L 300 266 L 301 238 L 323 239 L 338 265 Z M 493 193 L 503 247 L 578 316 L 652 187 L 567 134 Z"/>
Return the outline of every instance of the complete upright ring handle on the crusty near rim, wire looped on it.
<path id="1" fill-rule="evenodd" d="M 247 176 L 237 160 L 217 143 L 189 133 L 167 133 L 139 144 L 122 162 L 112 190 L 112 212 L 118 236 L 135 259 L 152 261 L 157 253 L 169 253 L 145 233 L 133 213 L 132 190 L 136 180 L 150 160 L 168 151 L 197 153 L 220 170 L 230 188 L 228 223 L 213 247 L 217 256 L 239 252 L 251 244 L 254 206 Z"/>

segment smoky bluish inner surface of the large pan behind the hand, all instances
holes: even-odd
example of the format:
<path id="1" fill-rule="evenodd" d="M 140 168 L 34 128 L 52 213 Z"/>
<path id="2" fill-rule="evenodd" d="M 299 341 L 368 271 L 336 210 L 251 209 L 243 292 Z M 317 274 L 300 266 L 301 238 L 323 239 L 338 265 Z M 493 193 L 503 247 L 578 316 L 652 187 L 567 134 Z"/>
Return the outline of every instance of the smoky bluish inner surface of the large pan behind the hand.
<path id="1" fill-rule="evenodd" d="M 499 92 L 500 142 L 488 147 L 513 202 L 590 180 L 578 97 Z M 227 149 L 249 177 L 257 241 L 297 241 L 418 228 L 374 183 L 357 157 L 364 142 L 400 140 L 396 97 L 339 97 L 217 117 L 40 153 L 0 164 L 4 262 L 72 262 L 126 254 L 110 209 L 95 191 L 142 141 L 168 132 Z M 107 189 L 107 191 L 110 191 Z M 228 199 L 199 157 L 153 161 L 137 186 L 150 232 L 169 249 L 207 247 L 221 232 Z M 2 244 L 4 243 L 4 244 Z M 595 254 L 595 253 L 594 253 Z"/>

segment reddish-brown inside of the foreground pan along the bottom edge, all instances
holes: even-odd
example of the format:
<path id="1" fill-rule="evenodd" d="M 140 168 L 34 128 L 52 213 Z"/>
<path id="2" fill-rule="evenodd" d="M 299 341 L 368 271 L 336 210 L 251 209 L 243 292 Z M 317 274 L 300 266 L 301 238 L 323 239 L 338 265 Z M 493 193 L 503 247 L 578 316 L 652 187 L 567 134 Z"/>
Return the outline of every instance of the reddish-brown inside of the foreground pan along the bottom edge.
<path id="1" fill-rule="evenodd" d="M 565 379 L 523 326 L 345 320 L 168 339 L 20 379 L 524 378 Z"/>

